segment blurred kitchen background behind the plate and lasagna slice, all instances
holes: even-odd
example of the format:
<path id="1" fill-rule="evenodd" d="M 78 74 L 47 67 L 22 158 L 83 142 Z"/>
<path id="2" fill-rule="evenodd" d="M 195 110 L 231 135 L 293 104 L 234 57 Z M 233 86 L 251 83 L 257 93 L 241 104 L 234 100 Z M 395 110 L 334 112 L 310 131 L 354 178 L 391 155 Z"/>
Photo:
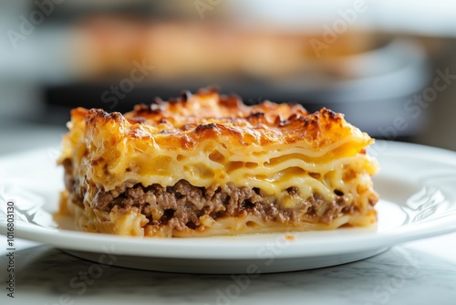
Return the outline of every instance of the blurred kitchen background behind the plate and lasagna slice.
<path id="1" fill-rule="evenodd" d="M 56 145 L 69 110 L 218 85 L 456 150 L 456 3 L 16 0 L 0 6 L 0 153 Z"/>

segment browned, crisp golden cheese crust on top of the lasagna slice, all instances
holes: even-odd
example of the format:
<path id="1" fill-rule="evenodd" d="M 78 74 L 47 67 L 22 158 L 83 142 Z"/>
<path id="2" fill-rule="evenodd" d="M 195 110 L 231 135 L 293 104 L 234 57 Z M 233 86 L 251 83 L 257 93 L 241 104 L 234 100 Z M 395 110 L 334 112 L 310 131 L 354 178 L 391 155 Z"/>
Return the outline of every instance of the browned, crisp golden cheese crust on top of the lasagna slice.
<path id="1" fill-rule="evenodd" d="M 219 96 L 213 90 L 137 105 L 123 116 L 78 108 L 71 111 L 71 117 L 74 123 L 84 121 L 88 130 L 109 129 L 115 138 L 153 139 L 169 149 L 190 150 L 198 142 L 223 138 L 240 147 L 300 142 L 309 150 L 318 150 L 353 133 L 358 133 L 359 147 L 372 142 L 342 114 L 325 108 L 309 114 L 301 105 L 270 101 L 249 107 L 235 96 Z"/>

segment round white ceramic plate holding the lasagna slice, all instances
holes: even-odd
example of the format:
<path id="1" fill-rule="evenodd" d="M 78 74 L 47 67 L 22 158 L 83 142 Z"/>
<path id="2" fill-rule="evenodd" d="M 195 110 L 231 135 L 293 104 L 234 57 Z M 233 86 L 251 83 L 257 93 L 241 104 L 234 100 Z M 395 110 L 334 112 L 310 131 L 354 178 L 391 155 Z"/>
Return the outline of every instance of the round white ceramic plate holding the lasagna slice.
<path id="1" fill-rule="evenodd" d="M 13 201 L 16 238 L 100 263 L 171 272 L 280 272 L 347 263 L 456 231 L 456 153 L 426 146 L 378 142 L 370 151 L 381 167 L 374 179 L 381 198 L 377 227 L 190 239 L 83 233 L 65 220 L 57 226 L 52 212 L 63 188 L 57 153 L 47 149 L 0 158 L 0 232 L 6 234 L 5 205 Z"/>

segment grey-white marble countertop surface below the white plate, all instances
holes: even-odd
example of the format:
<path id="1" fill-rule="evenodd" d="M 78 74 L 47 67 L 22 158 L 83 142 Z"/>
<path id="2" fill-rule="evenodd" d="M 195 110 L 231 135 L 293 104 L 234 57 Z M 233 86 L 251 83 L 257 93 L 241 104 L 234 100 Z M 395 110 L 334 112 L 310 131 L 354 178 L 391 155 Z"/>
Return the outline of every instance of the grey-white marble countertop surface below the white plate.
<path id="1" fill-rule="evenodd" d="M 230 275 L 153 272 L 93 263 L 55 247 L 18 240 L 15 299 L 1 304 L 455 304 L 456 234 L 390 248 L 330 268 L 262 274 L 248 284 Z M 0 268 L 5 286 L 7 251 Z"/>

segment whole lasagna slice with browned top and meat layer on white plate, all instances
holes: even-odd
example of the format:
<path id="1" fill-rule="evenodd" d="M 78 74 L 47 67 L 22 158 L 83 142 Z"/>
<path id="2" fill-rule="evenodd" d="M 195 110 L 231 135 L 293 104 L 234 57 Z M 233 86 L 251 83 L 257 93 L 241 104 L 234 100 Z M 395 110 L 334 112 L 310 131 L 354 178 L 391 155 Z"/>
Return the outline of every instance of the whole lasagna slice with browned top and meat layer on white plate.
<path id="1" fill-rule="evenodd" d="M 68 128 L 60 213 L 83 231 L 206 237 L 377 220 L 373 140 L 331 110 L 201 89 L 124 115 L 78 108 Z"/>

